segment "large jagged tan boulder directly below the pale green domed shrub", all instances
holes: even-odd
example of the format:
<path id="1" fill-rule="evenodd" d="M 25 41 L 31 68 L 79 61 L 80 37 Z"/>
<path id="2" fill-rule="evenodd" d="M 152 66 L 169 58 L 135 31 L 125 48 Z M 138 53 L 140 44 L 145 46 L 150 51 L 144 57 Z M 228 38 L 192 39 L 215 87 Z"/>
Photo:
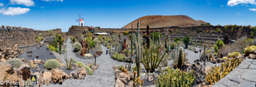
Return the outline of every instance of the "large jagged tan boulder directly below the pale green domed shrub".
<path id="1" fill-rule="evenodd" d="M 60 70 L 59 68 L 50 70 L 53 77 L 53 83 L 62 83 L 64 80 L 69 78 L 69 75 L 67 75 L 65 72 Z"/>

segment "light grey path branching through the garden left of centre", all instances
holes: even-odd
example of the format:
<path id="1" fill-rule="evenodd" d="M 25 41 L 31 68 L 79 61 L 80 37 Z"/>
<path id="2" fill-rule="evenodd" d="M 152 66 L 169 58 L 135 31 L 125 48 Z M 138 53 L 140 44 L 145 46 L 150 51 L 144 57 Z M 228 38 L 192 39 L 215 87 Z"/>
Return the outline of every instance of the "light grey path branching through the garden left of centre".
<path id="1" fill-rule="evenodd" d="M 97 58 L 97 65 L 99 67 L 95 70 L 94 75 L 86 75 L 86 78 L 83 80 L 77 79 L 67 79 L 64 83 L 61 84 L 50 84 L 48 86 L 52 87 L 113 87 L 115 84 L 114 71 L 112 67 L 114 65 L 125 65 L 124 62 L 117 62 L 105 54 L 106 47 L 101 46 L 103 53 Z M 73 58 L 76 62 L 83 62 L 85 65 L 88 63 L 93 63 L 94 59 L 80 59 L 75 57 L 75 54 L 72 52 L 72 43 L 70 38 L 67 39 L 67 59 Z M 65 62 L 62 59 L 62 62 Z"/>

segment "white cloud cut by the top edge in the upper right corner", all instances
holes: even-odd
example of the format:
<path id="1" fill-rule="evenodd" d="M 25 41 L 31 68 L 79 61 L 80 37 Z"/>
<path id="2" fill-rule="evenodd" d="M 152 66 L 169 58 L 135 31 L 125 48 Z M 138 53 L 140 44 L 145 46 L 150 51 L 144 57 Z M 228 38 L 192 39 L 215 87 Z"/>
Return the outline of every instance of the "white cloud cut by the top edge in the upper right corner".
<path id="1" fill-rule="evenodd" d="M 227 5 L 230 7 L 236 6 L 238 4 L 256 4 L 255 0 L 228 0 Z"/>

